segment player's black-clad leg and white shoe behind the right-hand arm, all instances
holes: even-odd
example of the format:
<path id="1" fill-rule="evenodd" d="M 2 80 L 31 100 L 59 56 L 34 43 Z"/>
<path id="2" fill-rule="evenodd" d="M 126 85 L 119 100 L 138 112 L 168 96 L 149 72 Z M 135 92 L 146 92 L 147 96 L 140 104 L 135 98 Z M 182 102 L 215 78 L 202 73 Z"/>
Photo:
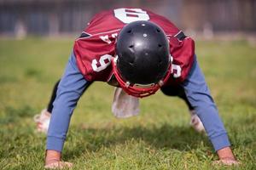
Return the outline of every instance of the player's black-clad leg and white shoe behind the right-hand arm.
<path id="1" fill-rule="evenodd" d="M 184 88 L 182 86 L 164 86 L 161 88 L 163 94 L 168 96 L 177 96 L 186 103 L 189 108 L 189 113 L 191 116 L 190 125 L 195 128 L 196 131 L 201 132 L 204 131 L 205 128 L 200 120 L 200 118 L 196 115 L 194 107 L 189 103 L 189 99 L 187 98 Z"/>

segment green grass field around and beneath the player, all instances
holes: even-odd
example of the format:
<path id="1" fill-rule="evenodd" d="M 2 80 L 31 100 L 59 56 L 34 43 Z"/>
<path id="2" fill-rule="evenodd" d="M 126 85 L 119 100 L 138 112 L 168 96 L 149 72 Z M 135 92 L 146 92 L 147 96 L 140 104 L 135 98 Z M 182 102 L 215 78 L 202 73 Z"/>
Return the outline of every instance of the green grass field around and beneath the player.
<path id="1" fill-rule="evenodd" d="M 45 135 L 32 117 L 48 103 L 71 39 L 0 40 L 0 169 L 44 169 Z M 113 88 L 96 82 L 74 111 L 63 160 L 73 169 L 256 169 L 256 45 L 197 42 L 196 54 L 240 167 L 216 167 L 207 136 L 189 127 L 183 101 L 161 93 L 140 116 L 111 113 Z"/>

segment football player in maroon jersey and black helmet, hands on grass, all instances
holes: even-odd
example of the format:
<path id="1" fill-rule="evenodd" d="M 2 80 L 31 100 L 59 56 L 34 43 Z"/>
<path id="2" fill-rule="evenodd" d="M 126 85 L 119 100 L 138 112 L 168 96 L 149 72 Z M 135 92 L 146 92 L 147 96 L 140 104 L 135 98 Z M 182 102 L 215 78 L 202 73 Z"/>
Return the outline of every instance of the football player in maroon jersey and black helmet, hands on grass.
<path id="1" fill-rule="evenodd" d="M 51 99 L 55 100 L 52 111 L 52 101 L 49 106 L 52 115 L 45 167 L 72 167 L 72 163 L 61 161 L 61 151 L 73 110 L 94 81 L 108 82 L 136 98 L 159 89 L 180 97 L 192 116 L 200 117 L 195 123 L 204 125 L 218 162 L 238 163 L 196 61 L 193 39 L 170 20 L 146 9 L 115 8 L 96 14 L 74 42 L 65 73 Z"/>

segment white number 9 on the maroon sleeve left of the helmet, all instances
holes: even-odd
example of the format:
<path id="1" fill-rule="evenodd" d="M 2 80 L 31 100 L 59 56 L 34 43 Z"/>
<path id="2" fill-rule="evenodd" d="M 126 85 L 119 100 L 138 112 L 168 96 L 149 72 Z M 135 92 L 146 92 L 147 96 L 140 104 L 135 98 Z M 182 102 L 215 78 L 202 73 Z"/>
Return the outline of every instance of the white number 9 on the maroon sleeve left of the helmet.
<path id="1" fill-rule="evenodd" d="M 91 67 L 93 71 L 100 72 L 107 68 L 111 63 L 112 56 L 109 54 L 102 55 L 99 61 L 93 59 L 91 62 Z"/>

